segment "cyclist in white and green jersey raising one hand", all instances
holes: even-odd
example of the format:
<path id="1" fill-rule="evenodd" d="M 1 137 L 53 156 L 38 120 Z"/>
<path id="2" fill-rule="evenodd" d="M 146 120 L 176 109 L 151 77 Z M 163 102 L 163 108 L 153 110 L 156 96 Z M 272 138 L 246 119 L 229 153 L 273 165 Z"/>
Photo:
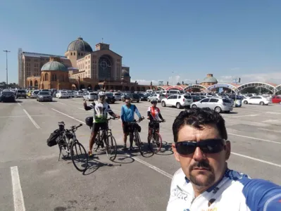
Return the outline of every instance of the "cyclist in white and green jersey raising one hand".
<path id="1" fill-rule="evenodd" d="M 93 127 L 91 136 L 89 138 L 89 156 L 92 156 L 94 140 L 96 139 L 96 134 L 99 132 L 99 129 L 106 129 L 107 127 L 107 113 L 109 113 L 109 115 L 111 115 L 112 117 L 120 118 L 119 115 L 113 113 L 111 107 L 108 105 L 108 103 L 106 103 L 106 94 L 104 93 L 104 91 L 100 91 L 98 96 L 99 99 L 97 101 L 94 101 L 94 103 L 89 104 L 89 106 L 87 106 L 87 102 L 84 101 L 85 110 L 94 109 Z"/>

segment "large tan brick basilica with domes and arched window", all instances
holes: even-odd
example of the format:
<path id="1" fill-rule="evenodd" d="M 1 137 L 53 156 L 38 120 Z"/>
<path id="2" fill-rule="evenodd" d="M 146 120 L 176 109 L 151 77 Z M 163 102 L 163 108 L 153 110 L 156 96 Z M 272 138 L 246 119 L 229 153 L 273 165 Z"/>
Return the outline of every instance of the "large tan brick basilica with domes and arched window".
<path id="1" fill-rule="evenodd" d="M 87 41 L 78 37 L 68 44 L 65 56 L 19 52 L 20 87 L 123 91 L 157 89 L 152 84 L 131 82 L 130 67 L 123 65 L 122 56 L 111 51 L 109 44 L 98 43 L 93 50 Z M 42 77 L 43 72 L 48 78 Z"/>

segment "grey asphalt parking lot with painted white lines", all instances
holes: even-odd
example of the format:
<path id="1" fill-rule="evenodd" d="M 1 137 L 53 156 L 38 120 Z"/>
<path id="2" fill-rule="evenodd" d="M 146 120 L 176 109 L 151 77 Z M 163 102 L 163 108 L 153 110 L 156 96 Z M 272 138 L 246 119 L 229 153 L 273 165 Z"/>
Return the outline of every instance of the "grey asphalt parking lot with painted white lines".
<path id="1" fill-rule="evenodd" d="M 166 119 L 161 124 L 166 144 L 158 155 L 144 158 L 138 151 L 130 154 L 119 149 L 115 162 L 111 162 L 105 153 L 95 153 L 83 174 L 71 160 L 58 161 L 57 146 L 46 145 L 49 134 L 58 128 L 57 122 L 64 121 L 70 127 L 92 115 L 82 103 L 82 98 L 0 103 L 0 210 L 166 210 L 170 181 L 180 168 L 170 148 L 173 120 L 180 110 L 158 103 Z M 121 101 L 110 104 L 119 115 L 122 105 Z M 135 105 L 146 116 L 150 103 Z M 228 167 L 281 185 L 281 106 L 243 105 L 222 115 L 232 143 Z M 117 144 L 123 146 L 120 123 L 113 120 L 110 127 Z M 147 124 L 148 120 L 140 123 L 143 142 Z M 77 130 L 86 150 L 89 133 L 85 124 Z"/>

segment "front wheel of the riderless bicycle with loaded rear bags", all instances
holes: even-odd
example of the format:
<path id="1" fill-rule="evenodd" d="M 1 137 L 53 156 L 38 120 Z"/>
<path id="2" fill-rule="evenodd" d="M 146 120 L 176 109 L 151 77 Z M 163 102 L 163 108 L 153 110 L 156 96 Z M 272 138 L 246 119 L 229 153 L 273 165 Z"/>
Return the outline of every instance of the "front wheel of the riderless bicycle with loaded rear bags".
<path id="1" fill-rule="evenodd" d="M 80 172 L 85 172 L 88 167 L 88 154 L 82 143 L 78 141 L 73 142 L 70 151 L 75 168 Z"/>

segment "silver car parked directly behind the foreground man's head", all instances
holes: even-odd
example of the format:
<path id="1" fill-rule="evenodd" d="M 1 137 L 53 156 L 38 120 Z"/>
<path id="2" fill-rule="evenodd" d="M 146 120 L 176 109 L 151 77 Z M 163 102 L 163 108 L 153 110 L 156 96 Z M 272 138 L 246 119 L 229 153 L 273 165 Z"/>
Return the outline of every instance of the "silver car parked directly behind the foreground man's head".
<path id="1" fill-rule="evenodd" d="M 210 108 L 217 113 L 230 113 L 233 110 L 232 102 L 227 98 L 204 98 L 201 101 L 192 103 L 191 108 Z"/>

